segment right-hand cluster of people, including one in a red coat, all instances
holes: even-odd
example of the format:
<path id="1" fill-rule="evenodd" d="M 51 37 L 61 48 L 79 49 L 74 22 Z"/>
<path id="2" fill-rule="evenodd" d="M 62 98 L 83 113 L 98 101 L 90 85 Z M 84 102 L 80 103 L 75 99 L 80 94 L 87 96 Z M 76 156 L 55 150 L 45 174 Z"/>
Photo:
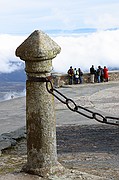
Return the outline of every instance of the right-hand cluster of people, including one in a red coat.
<path id="1" fill-rule="evenodd" d="M 91 77 L 91 83 L 94 82 L 108 82 L 108 68 L 104 66 L 102 68 L 101 66 L 98 66 L 97 70 L 94 68 L 94 65 L 90 68 L 90 77 Z"/>

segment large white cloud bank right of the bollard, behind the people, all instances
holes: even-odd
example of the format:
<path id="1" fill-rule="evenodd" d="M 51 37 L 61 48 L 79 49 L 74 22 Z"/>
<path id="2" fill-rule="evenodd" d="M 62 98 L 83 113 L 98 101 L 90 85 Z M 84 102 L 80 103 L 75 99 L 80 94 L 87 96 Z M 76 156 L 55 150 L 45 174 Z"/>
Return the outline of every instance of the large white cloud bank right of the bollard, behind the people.
<path id="1" fill-rule="evenodd" d="M 89 70 L 92 64 L 119 68 L 119 30 L 100 31 L 80 37 L 57 37 L 61 53 L 53 60 L 55 71 L 67 72 L 67 69 L 81 67 Z"/>

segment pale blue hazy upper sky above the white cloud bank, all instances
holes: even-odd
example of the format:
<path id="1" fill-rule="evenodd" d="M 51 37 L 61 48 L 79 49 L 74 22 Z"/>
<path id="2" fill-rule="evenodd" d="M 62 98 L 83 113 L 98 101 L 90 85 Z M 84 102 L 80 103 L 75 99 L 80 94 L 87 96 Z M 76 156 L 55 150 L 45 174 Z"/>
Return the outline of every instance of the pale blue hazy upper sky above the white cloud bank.
<path id="1" fill-rule="evenodd" d="M 119 0 L 0 0 L 0 34 L 119 27 Z"/>

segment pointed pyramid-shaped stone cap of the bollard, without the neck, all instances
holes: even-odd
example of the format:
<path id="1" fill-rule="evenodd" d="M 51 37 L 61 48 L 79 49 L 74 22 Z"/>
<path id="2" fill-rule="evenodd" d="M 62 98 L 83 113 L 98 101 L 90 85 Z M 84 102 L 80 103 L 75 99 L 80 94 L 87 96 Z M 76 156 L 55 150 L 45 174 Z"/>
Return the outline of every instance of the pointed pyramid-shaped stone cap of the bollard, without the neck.
<path id="1" fill-rule="evenodd" d="M 60 53 L 60 46 L 41 30 L 35 30 L 17 49 L 16 56 L 24 61 L 51 60 Z"/>

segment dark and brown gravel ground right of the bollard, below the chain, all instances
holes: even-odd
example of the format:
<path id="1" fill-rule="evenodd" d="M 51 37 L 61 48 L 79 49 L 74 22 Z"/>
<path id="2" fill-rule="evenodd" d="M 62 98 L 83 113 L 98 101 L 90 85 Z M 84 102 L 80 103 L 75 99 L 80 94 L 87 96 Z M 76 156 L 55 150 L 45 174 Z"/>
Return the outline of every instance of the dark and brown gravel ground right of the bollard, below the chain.
<path id="1" fill-rule="evenodd" d="M 119 179 L 119 128 L 67 126 L 57 131 L 59 161 L 67 168 Z"/>

